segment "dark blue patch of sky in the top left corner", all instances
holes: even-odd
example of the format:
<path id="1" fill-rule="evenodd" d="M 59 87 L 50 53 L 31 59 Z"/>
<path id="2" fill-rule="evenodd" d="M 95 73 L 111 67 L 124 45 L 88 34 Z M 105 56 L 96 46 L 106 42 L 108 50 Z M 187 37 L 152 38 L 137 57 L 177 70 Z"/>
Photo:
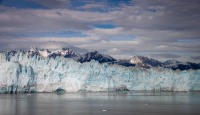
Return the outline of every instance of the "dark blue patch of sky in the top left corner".
<path id="1" fill-rule="evenodd" d="M 45 8 L 44 6 L 37 4 L 35 2 L 27 1 L 27 0 L 1 0 L 0 5 L 8 6 L 8 7 L 16 7 L 16 8 Z"/>

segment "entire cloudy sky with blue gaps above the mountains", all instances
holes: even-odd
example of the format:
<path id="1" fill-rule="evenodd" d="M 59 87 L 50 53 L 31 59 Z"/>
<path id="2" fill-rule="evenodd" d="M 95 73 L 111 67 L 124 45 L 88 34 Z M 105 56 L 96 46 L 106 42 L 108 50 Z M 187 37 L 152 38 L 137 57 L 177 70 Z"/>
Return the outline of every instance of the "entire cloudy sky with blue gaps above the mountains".
<path id="1" fill-rule="evenodd" d="M 0 49 L 68 45 L 200 62 L 200 0 L 0 0 Z"/>

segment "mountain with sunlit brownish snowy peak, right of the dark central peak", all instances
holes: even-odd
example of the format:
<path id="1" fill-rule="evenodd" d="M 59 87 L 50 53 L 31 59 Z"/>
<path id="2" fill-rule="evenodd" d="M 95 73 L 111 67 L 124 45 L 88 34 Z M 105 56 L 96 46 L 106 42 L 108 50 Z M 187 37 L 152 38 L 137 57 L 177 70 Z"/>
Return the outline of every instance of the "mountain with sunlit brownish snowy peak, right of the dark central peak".
<path id="1" fill-rule="evenodd" d="M 151 68 L 151 67 L 162 67 L 163 64 L 155 59 L 143 57 L 143 56 L 134 56 L 130 59 L 130 63 L 136 64 L 140 67 Z"/>

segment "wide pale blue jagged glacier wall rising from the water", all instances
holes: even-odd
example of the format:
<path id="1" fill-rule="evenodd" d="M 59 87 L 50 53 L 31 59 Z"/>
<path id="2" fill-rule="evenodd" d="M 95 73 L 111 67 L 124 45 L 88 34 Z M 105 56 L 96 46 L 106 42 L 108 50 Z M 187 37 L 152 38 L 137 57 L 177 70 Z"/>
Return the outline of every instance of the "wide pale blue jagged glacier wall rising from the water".
<path id="1" fill-rule="evenodd" d="M 0 93 L 78 91 L 198 91 L 200 70 L 80 63 L 70 58 L 0 53 Z"/>

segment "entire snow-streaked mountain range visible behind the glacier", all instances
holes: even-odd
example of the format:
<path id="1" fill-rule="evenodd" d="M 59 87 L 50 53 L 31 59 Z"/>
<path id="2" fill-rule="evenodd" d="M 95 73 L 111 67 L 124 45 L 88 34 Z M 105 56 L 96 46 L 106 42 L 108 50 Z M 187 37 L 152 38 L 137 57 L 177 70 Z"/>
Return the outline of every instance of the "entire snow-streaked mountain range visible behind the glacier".
<path id="1" fill-rule="evenodd" d="M 57 50 L 49 50 L 49 49 L 38 49 L 32 47 L 27 51 L 22 50 L 11 50 L 8 53 L 9 57 L 16 55 L 17 53 L 25 53 L 28 56 L 41 56 L 45 58 L 56 58 L 56 57 L 64 57 L 64 58 L 72 58 L 77 62 L 90 62 L 91 60 L 98 61 L 99 63 L 109 63 L 116 64 L 125 67 L 134 67 L 139 66 L 143 68 L 152 68 L 152 67 L 163 67 L 163 68 L 171 68 L 172 70 L 189 70 L 189 69 L 200 69 L 200 64 L 191 63 L 191 62 L 180 62 L 176 60 L 167 60 L 165 62 L 160 62 L 158 60 L 144 57 L 144 56 L 134 56 L 131 59 L 114 59 L 113 57 L 105 54 L 101 54 L 97 51 L 88 52 L 85 54 L 79 54 L 71 48 L 62 48 Z"/>

